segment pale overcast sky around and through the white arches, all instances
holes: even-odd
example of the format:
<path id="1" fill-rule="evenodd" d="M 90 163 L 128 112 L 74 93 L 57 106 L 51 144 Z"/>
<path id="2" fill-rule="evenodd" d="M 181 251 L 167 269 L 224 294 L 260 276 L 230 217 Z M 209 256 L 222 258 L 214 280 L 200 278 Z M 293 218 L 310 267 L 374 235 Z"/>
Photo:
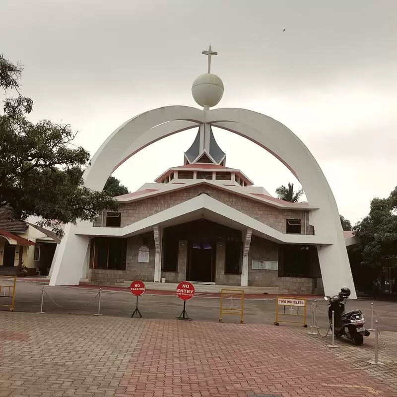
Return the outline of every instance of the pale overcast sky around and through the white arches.
<path id="1" fill-rule="evenodd" d="M 397 185 L 396 0 L 0 0 L 0 52 L 21 61 L 32 120 L 69 123 L 93 155 L 126 120 L 196 106 L 191 86 L 218 52 L 218 107 L 295 132 L 352 223 Z M 285 32 L 283 31 L 285 29 Z M 264 149 L 214 131 L 226 165 L 274 194 L 292 174 Z M 196 132 L 143 149 L 115 176 L 131 191 L 183 164 Z"/>

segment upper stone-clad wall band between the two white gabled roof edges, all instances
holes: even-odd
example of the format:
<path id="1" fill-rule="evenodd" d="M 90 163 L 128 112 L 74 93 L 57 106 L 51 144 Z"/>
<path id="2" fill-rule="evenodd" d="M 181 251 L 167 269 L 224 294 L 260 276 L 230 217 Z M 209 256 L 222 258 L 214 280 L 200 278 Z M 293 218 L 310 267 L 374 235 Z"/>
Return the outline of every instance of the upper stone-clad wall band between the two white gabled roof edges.
<path id="1" fill-rule="evenodd" d="M 279 209 L 211 186 L 195 186 L 130 203 L 121 203 L 121 227 L 128 226 L 138 220 L 144 219 L 174 205 L 193 199 L 200 193 L 206 193 L 210 197 L 265 223 L 281 233 L 286 232 L 286 219 L 300 219 L 302 221 L 302 225 L 305 224 L 306 211 L 304 210 Z M 97 219 L 95 226 L 100 226 L 101 216 Z M 309 234 L 312 229 L 310 228 L 308 218 L 306 221 L 306 228 L 306 232 Z"/>

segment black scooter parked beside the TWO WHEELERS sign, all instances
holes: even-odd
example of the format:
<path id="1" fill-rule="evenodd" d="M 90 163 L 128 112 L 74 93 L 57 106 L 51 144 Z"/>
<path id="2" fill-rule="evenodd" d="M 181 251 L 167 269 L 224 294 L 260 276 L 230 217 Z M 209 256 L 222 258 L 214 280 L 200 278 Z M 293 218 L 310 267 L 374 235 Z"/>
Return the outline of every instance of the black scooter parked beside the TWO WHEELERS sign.
<path id="1" fill-rule="evenodd" d="M 338 295 L 325 296 L 324 299 L 330 302 L 328 305 L 328 317 L 331 331 L 334 332 L 335 337 L 345 336 L 357 346 L 360 346 L 364 342 L 363 336 L 369 336 L 370 332 L 364 328 L 365 320 L 361 310 L 344 310 L 346 299 L 349 296 L 350 289 L 342 287 Z M 335 330 L 332 330 L 332 310 L 334 311 Z"/>

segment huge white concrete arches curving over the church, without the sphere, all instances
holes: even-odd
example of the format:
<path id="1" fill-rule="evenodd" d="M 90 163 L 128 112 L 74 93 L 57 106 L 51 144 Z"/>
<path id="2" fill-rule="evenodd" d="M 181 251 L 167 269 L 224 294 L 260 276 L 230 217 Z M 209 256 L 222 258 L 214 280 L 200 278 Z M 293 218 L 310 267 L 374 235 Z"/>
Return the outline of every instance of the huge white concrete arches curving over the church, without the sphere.
<path id="1" fill-rule="evenodd" d="M 171 131 L 178 125 L 176 131 Z M 136 116 L 113 132 L 94 155 L 84 172 L 85 185 L 102 190 L 107 178 L 124 159 L 150 143 L 199 123 L 238 133 L 254 141 L 287 165 L 297 176 L 310 202 L 320 205 L 312 217 L 316 235 L 333 235 L 334 244 L 318 247 L 326 294 L 347 285 L 355 298 L 354 284 L 344 245 L 335 199 L 317 161 L 303 142 L 281 123 L 246 109 L 203 111 L 186 106 L 154 109 Z M 127 149 L 126 149 L 127 148 Z M 124 156 L 124 158 L 123 158 Z M 76 236 L 75 226 L 66 228 L 60 252 L 54 262 L 51 285 L 76 284 L 82 274 L 88 239 Z"/>

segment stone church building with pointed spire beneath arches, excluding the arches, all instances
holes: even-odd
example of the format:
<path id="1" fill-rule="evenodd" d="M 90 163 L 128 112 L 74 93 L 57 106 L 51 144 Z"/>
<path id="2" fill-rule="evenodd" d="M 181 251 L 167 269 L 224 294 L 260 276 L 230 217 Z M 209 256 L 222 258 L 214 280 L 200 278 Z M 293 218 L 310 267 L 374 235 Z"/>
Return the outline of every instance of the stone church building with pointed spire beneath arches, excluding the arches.
<path id="1" fill-rule="evenodd" d="M 242 285 L 246 263 L 248 285 L 312 293 L 321 277 L 310 241 L 309 214 L 316 207 L 275 199 L 241 170 L 226 167 L 209 125 L 199 127 L 183 160 L 154 183 L 118 197 L 119 212 L 96 220 L 88 279 Z M 126 228 L 129 237 L 120 238 Z"/>

